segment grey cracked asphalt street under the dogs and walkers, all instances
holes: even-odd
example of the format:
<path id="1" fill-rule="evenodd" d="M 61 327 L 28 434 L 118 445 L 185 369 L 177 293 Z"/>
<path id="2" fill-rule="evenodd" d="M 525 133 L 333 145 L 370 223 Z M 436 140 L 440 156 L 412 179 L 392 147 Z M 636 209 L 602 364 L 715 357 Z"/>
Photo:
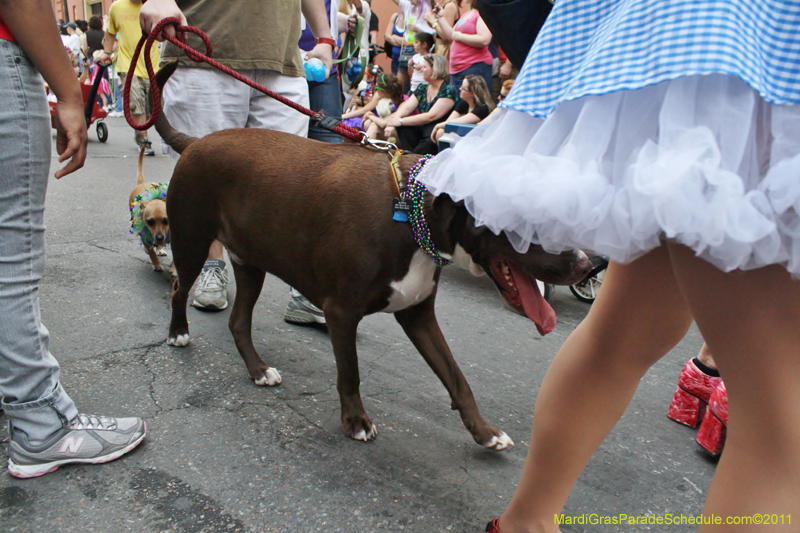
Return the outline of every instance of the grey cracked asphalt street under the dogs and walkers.
<path id="1" fill-rule="evenodd" d="M 558 325 L 542 338 L 503 306 L 486 278 L 446 268 L 439 323 L 484 418 L 516 446 L 493 452 L 472 441 L 444 387 L 389 315 L 367 317 L 358 336 L 361 390 L 378 437 L 350 440 L 340 430 L 327 333 L 283 321 L 288 287 L 281 280 L 267 277 L 253 337 L 282 385 L 262 388 L 249 379 L 228 331 L 229 310 L 190 308 L 191 345 L 165 344 L 169 276 L 152 271 L 128 232 L 133 131 L 124 119 L 106 122 L 107 143 L 90 130 L 84 169 L 51 179 L 41 308 L 62 383 L 81 412 L 142 416 L 149 433 L 138 449 L 105 465 L 65 466 L 30 480 L 3 471 L 0 531 L 475 533 L 499 516 L 525 461 L 539 384 L 588 304 L 559 287 L 552 298 Z M 145 176 L 168 181 L 174 161 L 154 146 L 158 155 L 145 159 Z M 54 151 L 51 174 L 57 165 Z M 236 293 L 233 282 L 229 289 Z M 701 344 L 693 328 L 644 377 L 565 514 L 700 513 L 715 465 L 694 432 L 666 412 L 681 368 Z M 0 449 L 5 460 L 5 444 Z"/>

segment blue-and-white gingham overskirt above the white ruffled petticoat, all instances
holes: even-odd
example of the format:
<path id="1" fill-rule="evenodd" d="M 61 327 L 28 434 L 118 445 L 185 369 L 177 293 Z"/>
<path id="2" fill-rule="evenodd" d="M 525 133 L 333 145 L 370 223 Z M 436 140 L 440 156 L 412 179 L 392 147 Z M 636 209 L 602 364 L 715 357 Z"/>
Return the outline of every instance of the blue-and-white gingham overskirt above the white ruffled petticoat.
<path id="1" fill-rule="evenodd" d="M 708 73 L 800 103 L 797 0 L 561 0 L 545 28 L 503 106 L 547 116 L 564 100 Z"/>

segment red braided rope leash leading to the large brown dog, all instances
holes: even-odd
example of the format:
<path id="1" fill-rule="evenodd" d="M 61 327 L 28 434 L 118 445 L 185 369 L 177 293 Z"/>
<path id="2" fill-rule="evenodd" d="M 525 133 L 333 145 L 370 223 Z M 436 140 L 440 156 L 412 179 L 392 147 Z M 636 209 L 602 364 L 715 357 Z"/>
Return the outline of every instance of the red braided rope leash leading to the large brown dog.
<path id="1" fill-rule="evenodd" d="M 133 58 L 131 59 L 131 66 L 128 69 L 128 75 L 125 77 L 125 88 L 122 91 L 122 99 L 125 110 L 125 120 L 128 121 L 128 124 L 130 124 L 133 129 L 144 131 L 150 128 L 150 126 L 155 124 L 158 115 L 161 113 L 161 91 L 158 89 L 158 85 L 156 84 L 155 81 L 156 75 L 155 72 L 153 71 L 152 60 L 150 59 L 150 50 L 153 47 L 153 42 L 156 40 L 156 36 L 162 32 L 164 26 L 166 26 L 167 24 L 172 24 L 175 26 L 176 35 L 178 37 L 177 38 L 172 37 L 171 35 L 165 32 L 163 34 L 164 38 L 169 42 L 171 42 L 172 44 L 178 46 L 180 49 L 182 49 L 189 57 L 189 59 L 191 59 L 192 61 L 196 63 L 208 63 L 212 67 L 221 70 L 222 72 L 228 74 L 229 76 L 233 76 L 242 83 L 246 83 L 253 89 L 261 91 L 267 96 L 271 96 L 272 98 L 278 100 L 279 102 L 286 104 L 293 109 L 296 109 L 300 113 L 303 113 L 304 115 L 309 116 L 312 119 L 315 119 L 317 121 L 323 119 L 324 115 L 320 113 L 315 113 L 314 111 L 311 111 L 310 109 L 303 107 L 296 102 L 292 102 L 288 98 L 281 96 L 280 94 L 271 91 L 266 87 L 264 87 L 263 85 L 259 85 L 258 83 L 248 78 L 245 78 L 238 72 L 211 59 L 211 57 L 209 57 L 211 55 L 211 41 L 208 40 L 208 36 L 205 33 L 203 33 L 199 28 L 195 28 L 193 26 L 181 26 L 180 22 L 181 21 L 176 17 L 163 19 L 153 28 L 153 30 L 150 32 L 149 35 L 142 35 L 142 38 L 139 40 L 139 44 L 136 45 L 136 51 L 134 51 L 133 53 Z M 206 47 L 207 55 L 201 54 L 200 52 L 190 48 L 189 45 L 186 44 L 185 32 L 194 33 L 195 35 L 200 37 L 200 39 L 203 40 L 203 44 Z M 150 120 L 148 120 L 144 124 L 136 124 L 133 122 L 133 117 L 131 115 L 130 94 L 131 94 L 131 82 L 133 81 L 133 75 L 134 72 L 136 71 L 136 64 L 139 61 L 139 53 L 142 51 L 142 46 L 144 46 L 144 53 L 145 53 L 144 64 L 147 67 L 147 75 L 150 77 L 150 91 L 153 97 L 153 112 L 152 115 L 150 116 Z M 337 123 L 335 127 L 328 129 L 331 129 L 334 133 L 338 133 L 342 137 L 346 137 L 352 141 L 359 143 L 363 141 L 365 137 L 365 133 L 363 131 L 351 128 L 349 126 L 345 126 L 341 122 Z"/>

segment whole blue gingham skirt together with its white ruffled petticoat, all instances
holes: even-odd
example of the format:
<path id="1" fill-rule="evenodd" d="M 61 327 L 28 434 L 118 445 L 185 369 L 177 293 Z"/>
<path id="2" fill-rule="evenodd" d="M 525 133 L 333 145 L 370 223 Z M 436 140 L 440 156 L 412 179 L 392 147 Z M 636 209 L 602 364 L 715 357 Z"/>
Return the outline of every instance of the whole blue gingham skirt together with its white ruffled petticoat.
<path id="1" fill-rule="evenodd" d="M 800 0 L 558 0 L 500 112 L 420 179 L 523 252 L 664 238 L 800 277 Z"/>

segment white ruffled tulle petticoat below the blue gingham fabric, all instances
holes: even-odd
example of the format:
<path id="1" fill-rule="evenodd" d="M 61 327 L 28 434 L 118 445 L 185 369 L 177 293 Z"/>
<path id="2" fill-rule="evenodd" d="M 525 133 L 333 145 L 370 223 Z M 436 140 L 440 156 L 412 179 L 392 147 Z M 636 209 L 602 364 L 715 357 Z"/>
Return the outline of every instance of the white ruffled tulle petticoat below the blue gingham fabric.
<path id="1" fill-rule="evenodd" d="M 586 96 L 546 119 L 504 109 L 420 178 L 520 252 L 533 242 L 627 263 L 667 238 L 726 272 L 800 276 L 800 106 L 733 76 Z"/>

